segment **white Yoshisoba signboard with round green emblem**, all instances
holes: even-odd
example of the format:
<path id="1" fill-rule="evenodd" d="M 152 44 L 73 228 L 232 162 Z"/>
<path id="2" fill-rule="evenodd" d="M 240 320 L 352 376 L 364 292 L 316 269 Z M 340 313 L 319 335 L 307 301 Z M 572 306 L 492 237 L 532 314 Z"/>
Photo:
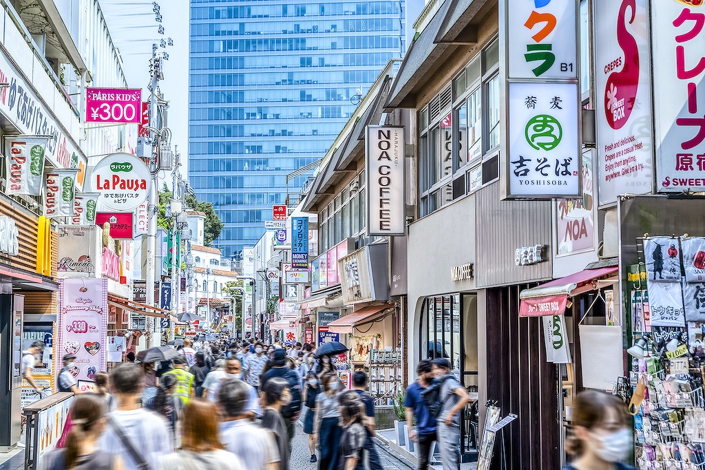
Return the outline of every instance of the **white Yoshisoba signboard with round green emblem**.
<path id="1" fill-rule="evenodd" d="M 509 192 L 580 194 L 577 83 L 509 84 Z"/>

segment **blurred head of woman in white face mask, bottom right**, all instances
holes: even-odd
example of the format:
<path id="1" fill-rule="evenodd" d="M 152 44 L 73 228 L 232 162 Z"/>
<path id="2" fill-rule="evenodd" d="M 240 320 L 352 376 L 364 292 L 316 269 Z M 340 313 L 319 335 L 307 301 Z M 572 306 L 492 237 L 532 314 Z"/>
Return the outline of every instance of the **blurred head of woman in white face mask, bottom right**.
<path id="1" fill-rule="evenodd" d="M 627 407 L 596 390 L 580 392 L 572 407 L 574 435 L 565 445 L 575 461 L 565 470 L 634 470 L 622 464 L 633 448 Z"/>

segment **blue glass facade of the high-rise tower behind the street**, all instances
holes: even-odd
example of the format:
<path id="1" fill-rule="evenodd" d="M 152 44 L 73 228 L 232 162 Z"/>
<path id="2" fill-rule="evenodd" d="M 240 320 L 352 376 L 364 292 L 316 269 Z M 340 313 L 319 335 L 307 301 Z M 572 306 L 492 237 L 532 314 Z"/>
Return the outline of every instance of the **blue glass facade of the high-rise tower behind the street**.
<path id="1" fill-rule="evenodd" d="M 361 95 L 405 50 L 404 0 L 191 0 L 188 175 L 254 246 L 286 175 L 321 159 Z M 294 181 L 298 190 L 304 182 Z"/>

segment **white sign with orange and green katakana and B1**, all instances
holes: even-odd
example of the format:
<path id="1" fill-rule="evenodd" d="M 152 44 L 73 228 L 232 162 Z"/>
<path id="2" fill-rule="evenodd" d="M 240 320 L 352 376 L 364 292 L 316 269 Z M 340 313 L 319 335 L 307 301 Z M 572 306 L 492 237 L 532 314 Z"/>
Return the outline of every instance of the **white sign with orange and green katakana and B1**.
<path id="1" fill-rule="evenodd" d="M 577 2 L 505 1 L 509 76 L 577 79 Z"/>

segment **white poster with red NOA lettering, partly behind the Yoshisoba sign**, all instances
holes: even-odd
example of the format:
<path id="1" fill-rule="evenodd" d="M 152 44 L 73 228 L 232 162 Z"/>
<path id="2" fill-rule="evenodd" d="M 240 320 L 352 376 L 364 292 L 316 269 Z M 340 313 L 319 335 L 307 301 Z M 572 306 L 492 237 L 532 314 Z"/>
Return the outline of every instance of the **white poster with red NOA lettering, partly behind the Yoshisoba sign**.
<path id="1" fill-rule="evenodd" d="M 556 202 L 556 256 L 591 251 L 595 248 L 595 199 L 592 178 L 593 152 L 582 154 L 582 198 Z"/>

